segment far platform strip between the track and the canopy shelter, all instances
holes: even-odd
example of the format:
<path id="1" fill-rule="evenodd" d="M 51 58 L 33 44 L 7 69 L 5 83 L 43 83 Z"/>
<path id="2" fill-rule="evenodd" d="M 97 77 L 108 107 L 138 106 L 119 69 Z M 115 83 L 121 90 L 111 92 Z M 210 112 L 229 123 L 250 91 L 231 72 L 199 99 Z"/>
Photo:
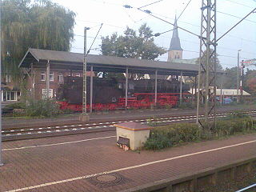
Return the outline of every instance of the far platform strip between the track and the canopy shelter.
<path id="1" fill-rule="evenodd" d="M 256 106 L 218 106 L 217 112 L 227 110 L 254 110 Z M 118 110 L 90 114 L 90 122 L 106 120 L 126 120 L 132 118 L 157 118 L 160 116 L 178 116 L 184 114 L 196 114 L 196 109 L 158 109 L 158 110 Z M 79 122 L 79 114 L 63 115 L 58 118 L 3 118 L 3 128 L 15 128 L 22 126 L 50 126 L 52 124 L 66 124 Z"/>

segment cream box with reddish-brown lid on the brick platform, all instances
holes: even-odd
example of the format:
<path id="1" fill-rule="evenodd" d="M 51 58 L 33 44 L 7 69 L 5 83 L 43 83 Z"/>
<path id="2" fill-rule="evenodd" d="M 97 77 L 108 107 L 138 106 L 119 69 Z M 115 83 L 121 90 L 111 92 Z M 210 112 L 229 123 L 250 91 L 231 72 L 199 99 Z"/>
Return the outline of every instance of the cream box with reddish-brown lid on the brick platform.
<path id="1" fill-rule="evenodd" d="M 120 137 L 130 139 L 130 150 L 142 148 L 146 139 L 150 137 L 150 126 L 138 122 L 123 122 L 115 124 L 117 130 L 117 141 Z"/>

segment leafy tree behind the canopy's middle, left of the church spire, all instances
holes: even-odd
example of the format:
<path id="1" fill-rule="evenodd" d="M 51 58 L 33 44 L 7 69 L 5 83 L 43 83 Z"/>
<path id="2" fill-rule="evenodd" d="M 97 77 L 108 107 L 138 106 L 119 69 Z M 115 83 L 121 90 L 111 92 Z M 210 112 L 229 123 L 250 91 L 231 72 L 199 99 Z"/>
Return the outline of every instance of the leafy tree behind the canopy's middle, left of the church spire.
<path id="1" fill-rule="evenodd" d="M 111 36 L 102 37 L 102 54 L 154 60 L 159 55 L 165 54 L 166 50 L 154 44 L 152 32 L 149 26 L 143 24 L 138 29 L 138 34 L 127 26 L 124 35 L 118 36 L 114 33 Z M 142 78 L 142 75 L 137 74 L 133 76 L 135 77 Z"/>

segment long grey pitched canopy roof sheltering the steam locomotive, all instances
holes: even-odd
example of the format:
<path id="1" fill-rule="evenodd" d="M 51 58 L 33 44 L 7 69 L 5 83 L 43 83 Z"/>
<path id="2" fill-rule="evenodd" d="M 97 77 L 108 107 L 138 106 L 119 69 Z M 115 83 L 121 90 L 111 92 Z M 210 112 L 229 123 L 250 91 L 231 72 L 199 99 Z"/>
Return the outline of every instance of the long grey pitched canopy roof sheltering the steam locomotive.
<path id="1" fill-rule="evenodd" d="M 94 71 L 106 71 L 125 73 L 128 67 L 130 73 L 136 74 L 158 74 L 196 76 L 199 65 L 184 64 L 179 62 L 160 62 L 138 58 L 120 58 L 106 55 L 88 54 L 86 57 L 87 70 L 90 66 Z M 33 63 L 34 67 L 46 68 L 47 62 L 50 63 L 51 69 L 58 70 L 82 70 L 83 54 L 72 53 L 68 51 L 56 50 L 39 50 L 29 49 L 19 64 L 19 67 L 30 68 Z"/>

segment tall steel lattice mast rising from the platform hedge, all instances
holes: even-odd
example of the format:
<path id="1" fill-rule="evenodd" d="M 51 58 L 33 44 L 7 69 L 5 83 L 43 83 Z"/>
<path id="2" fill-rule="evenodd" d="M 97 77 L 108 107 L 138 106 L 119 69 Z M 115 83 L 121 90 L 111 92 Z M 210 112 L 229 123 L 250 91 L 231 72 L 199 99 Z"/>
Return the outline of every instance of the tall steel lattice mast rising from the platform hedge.
<path id="1" fill-rule="evenodd" d="M 201 10 L 197 123 L 203 127 L 199 119 L 200 101 L 204 101 L 206 126 L 209 126 L 210 114 L 214 114 L 214 124 L 216 120 L 216 0 L 202 0 Z M 210 91 L 210 86 L 213 91 Z"/>

